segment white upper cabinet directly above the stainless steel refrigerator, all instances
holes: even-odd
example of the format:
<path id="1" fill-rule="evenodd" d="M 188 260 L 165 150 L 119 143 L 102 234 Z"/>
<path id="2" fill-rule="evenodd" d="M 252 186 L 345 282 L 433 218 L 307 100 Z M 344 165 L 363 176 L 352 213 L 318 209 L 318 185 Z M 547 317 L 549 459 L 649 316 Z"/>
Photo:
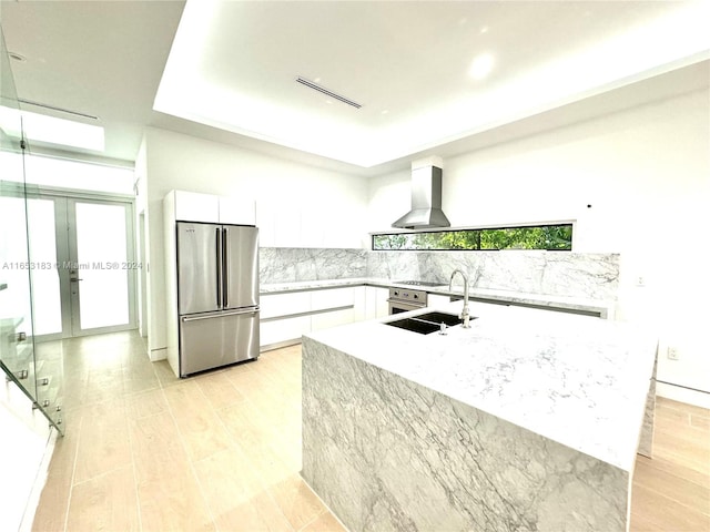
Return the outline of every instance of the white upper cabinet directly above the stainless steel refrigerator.
<path id="1" fill-rule="evenodd" d="M 172 191 L 166 201 L 172 203 L 176 221 L 256 225 L 256 204 L 253 200 Z"/>

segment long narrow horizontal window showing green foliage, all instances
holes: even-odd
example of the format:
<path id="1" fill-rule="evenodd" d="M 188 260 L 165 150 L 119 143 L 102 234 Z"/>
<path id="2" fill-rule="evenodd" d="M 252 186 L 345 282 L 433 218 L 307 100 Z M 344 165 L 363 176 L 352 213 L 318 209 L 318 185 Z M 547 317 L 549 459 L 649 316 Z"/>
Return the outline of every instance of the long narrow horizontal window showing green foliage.
<path id="1" fill-rule="evenodd" d="M 572 224 L 373 235 L 373 249 L 571 250 Z"/>

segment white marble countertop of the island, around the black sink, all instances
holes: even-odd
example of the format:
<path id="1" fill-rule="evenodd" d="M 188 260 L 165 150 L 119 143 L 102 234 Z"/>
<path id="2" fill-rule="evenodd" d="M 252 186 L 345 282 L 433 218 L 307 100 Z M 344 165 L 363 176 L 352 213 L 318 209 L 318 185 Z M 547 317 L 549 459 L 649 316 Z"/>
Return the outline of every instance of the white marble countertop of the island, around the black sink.
<path id="1" fill-rule="evenodd" d="M 437 310 L 459 313 L 463 301 Z M 470 329 L 384 325 L 413 310 L 308 335 L 546 438 L 631 471 L 657 338 L 630 324 L 471 303 Z"/>

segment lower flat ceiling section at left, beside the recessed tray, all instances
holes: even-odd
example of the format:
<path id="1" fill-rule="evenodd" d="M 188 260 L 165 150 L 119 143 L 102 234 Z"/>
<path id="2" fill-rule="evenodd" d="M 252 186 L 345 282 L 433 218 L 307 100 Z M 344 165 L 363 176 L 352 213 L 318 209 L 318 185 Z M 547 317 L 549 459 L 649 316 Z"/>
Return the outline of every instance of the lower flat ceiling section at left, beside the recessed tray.
<path id="1" fill-rule="evenodd" d="M 18 96 L 99 116 L 23 105 L 105 130 L 103 153 L 134 161 L 143 129 L 155 120 L 153 100 L 184 2 L 2 1 L 0 24 L 12 61 Z M 61 146 L 34 145 L 36 151 Z"/>

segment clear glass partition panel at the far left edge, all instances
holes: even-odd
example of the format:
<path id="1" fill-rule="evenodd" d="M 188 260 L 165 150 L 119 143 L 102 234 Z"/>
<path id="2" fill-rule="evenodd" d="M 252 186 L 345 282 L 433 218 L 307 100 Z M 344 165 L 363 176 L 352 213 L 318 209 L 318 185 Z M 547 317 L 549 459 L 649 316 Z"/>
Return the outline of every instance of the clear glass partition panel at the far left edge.
<path id="1" fill-rule="evenodd" d="M 0 111 L 19 110 L 10 59 L 0 27 Z M 33 318 L 32 245 L 28 231 L 28 151 L 19 113 L 0 112 L 0 368 L 62 433 L 62 359 L 38 356 Z M 39 214 L 39 213 L 38 213 Z"/>

